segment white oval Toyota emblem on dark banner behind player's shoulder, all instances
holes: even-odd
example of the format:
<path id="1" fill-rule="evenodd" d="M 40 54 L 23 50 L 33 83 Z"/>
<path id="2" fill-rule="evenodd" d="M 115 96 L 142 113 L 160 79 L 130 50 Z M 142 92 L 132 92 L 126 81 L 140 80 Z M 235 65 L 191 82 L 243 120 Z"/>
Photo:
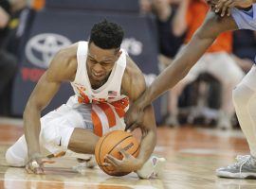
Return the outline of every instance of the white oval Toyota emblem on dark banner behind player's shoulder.
<path id="1" fill-rule="evenodd" d="M 26 45 L 26 56 L 32 64 L 47 68 L 53 56 L 71 42 L 62 35 L 43 33 L 31 38 Z"/>

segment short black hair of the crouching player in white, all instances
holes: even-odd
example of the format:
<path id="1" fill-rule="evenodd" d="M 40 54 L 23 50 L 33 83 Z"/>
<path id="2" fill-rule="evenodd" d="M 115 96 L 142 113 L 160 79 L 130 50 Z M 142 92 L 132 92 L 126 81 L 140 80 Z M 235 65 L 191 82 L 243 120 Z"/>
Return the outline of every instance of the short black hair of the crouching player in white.
<path id="1" fill-rule="evenodd" d="M 93 42 L 102 49 L 119 48 L 123 35 L 121 26 L 104 19 L 92 27 L 89 43 Z"/>

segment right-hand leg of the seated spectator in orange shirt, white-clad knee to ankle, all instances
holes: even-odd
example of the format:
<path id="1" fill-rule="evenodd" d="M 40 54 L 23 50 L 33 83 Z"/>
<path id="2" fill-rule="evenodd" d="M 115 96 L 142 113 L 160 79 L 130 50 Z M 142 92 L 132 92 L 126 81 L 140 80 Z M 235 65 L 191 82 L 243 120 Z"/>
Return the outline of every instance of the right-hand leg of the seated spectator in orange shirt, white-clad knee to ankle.
<path id="1" fill-rule="evenodd" d="M 230 58 L 229 54 L 225 52 L 206 54 L 205 61 L 208 62 L 207 71 L 216 77 L 222 86 L 218 127 L 231 129 L 230 119 L 234 114 L 234 106 L 231 100 L 232 90 L 245 74 L 236 62 Z"/>

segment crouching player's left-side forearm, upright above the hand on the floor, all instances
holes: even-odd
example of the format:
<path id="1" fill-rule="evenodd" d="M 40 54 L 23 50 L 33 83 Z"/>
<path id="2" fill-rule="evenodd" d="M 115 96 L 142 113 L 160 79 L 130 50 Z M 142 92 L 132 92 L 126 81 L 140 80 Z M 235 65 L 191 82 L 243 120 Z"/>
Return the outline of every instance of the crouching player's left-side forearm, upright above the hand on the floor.
<path id="1" fill-rule="evenodd" d="M 29 108 L 24 112 L 24 131 L 27 141 L 28 156 L 31 156 L 35 153 L 40 153 L 40 116 L 40 111 L 36 109 Z"/>

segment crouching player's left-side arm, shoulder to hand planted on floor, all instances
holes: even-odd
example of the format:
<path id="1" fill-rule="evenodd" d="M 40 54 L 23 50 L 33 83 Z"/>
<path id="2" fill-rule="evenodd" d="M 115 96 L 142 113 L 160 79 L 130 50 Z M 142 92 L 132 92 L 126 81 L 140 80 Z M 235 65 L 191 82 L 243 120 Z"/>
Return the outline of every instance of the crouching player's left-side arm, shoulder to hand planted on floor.
<path id="1" fill-rule="evenodd" d="M 76 70 L 73 66 L 76 64 L 68 58 L 67 50 L 64 49 L 57 53 L 27 101 L 23 118 L 27 141 L 28 163 L 26 168 L 28 172 L 36 174 L 44 172 L 39 145 L 40 117 L 41 112 L 58 92 L 62 81 L 68 80 Z M 71 53 L 70 50 L 68 52 Z"/>

